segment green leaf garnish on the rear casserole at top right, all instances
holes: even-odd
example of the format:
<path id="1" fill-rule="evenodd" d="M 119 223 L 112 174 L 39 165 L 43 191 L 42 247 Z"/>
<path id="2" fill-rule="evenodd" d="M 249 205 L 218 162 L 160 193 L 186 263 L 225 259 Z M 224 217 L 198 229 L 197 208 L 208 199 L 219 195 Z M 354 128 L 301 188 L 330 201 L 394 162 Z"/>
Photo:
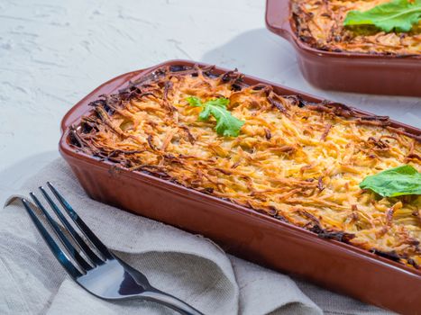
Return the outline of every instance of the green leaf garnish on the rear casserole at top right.
<path id="1" fill-rule="evenodd" d="M 421 0 L 392 0 L 371 10 L 350 11 L 343 25 L 374 25 L 382 31 L 410 31 L 421 19 Z"/>

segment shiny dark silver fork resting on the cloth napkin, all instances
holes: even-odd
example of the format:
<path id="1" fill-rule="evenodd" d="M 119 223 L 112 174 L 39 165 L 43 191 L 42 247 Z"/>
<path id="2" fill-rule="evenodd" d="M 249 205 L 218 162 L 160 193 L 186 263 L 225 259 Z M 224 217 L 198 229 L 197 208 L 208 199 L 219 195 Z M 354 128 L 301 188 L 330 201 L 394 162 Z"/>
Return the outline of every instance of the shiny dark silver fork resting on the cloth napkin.
<path id="1" fill-rule="evenodd" d="M 57 189 L 54 188 L 50 182 L 47 184 L 62 208 L 69 214 L 69 218 L 75 222 L 78 229 L 80 229 L 85 238 L 87 238 L 88 242 L 86 242 L 79 232 L 69 223 L 69 220 L 67 220 L 59 210 L 59 206 L 53 202 L 49 193 L 47 193 L 43 187 L 40 187 L 42 195 L 50 204 L 51 209 L 56 213 L 63 224 L 64 229 L 68 232 L 67 234 L 69 234 L 73 242 L 78 245 L 78 249 L 85 257 L 82 257 L 79 250 L 72 245 L 70 239 L 62 232 L 57 222 L 51 218 L 50 213 L 45 209 L 34 193 L 30 193 L 33 202 L 41 209 L 49 222 L 50 227 L 54 230 L 62 245 L 67 249 L 67 253 L 76 264 L 74 264 L 68 255 L 58 246 L 56 241 L 41 223 L 41 220 L 38 219 L 36 211 L 32 210 L 31 203 L 24 198 L 22 198 L 23 206 L 36 228 L 41 233 L 42 238 L 47 242 L 54 257 L 59 260 L 61 266 L 64 267 L 77 284 L 87 290 L 88 293 L 92 293 L 98 298 L 105 300 L 128 300 L 139 298 L 142 300 L 158 302 L 181 314 L 202 314 L 186 302 L 182 302 L 169 293 L 164 293 L 154 288 L 145 275 L 135 270 L 132 266 L 124 263 L 120 258 L 115 257 L 99 238 L 96 237 L 94 232 L 87 227 L 87 224 L 78 216 L 78 213 L 73 210 L 69 205 L 69 202 L 63 198 Z M 95 249 L 93 250 L 92 248 Z"/>

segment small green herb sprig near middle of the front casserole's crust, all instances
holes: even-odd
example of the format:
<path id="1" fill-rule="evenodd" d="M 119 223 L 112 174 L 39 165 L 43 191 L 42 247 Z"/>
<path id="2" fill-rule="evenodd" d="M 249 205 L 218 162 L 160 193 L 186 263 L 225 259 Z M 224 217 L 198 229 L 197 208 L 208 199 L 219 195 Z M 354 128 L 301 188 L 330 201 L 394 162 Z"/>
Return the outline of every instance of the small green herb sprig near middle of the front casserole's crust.
<path id="1" fill-rule="evenodd" d="M 191 106 L 202 107 L 202 112 L 199 114 L 200 121 L 208 121 L 210 115 L 215 117 L 215 130 L 218 135 L 225 137 L 239 135 L 244 121 L 240 121 L 228 112 L 226 105 L 230 103 L 229 99 L 221 97 L 202 103 L 196 96 L 190 96 L 187 101 Z"/>

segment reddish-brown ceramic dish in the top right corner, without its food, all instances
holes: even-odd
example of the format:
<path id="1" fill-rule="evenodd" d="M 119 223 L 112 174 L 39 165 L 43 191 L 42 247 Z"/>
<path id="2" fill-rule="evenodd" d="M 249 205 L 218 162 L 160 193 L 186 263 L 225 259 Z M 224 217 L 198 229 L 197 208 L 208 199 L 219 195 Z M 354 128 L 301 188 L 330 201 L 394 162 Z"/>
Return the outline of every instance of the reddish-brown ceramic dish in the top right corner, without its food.
<path id="1" fill-rule="evenodd" d="M 421 96 L 421 54 L 370 55 L 314 49 L 297 38 L 290 0 L 267 0 L 268 29 L 288 40 L 309 83 L 326 90 Z"/>

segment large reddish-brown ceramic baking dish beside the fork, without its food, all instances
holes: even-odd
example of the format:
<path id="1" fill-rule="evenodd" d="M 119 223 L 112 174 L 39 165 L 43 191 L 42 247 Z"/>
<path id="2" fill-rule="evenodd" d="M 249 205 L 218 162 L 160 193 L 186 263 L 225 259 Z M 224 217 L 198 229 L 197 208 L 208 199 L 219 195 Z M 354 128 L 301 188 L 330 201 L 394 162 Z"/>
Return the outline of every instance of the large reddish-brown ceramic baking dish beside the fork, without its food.
<path id="1" fill-rule="evenodd" d="M 156 176 L 116 168 L 113 163 L 81 153 L 70 145 L 69 127 L 78 125 L 81 116 L 92 111 L 88 103 L 99 95 L 115 93 L 159 67 L 194 64 L 197 63 L 173 60 L 117 76 L 96 88 L 65 115 L 61 122 L 59 151 L 88 195 L 126 211 L 202 234 L 233 255 L 301 276 L 363 302 L 401 313 L 421 310 L 421 272 L 414 268 L 333 239 L 319 238 L 306 229 Z M 215 74 L 225 71 L 215 68 Z M 299 94 L 308 102 L 322 101 L 252 76 L 244 76 L 244 82 L 269 84 L 278 94 Z M 392 121 L 392 126 L 421 135 L 421 130 L 396 121 Z"/>

